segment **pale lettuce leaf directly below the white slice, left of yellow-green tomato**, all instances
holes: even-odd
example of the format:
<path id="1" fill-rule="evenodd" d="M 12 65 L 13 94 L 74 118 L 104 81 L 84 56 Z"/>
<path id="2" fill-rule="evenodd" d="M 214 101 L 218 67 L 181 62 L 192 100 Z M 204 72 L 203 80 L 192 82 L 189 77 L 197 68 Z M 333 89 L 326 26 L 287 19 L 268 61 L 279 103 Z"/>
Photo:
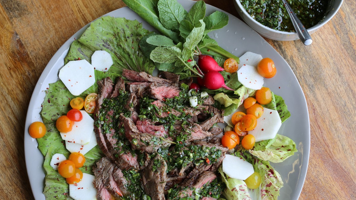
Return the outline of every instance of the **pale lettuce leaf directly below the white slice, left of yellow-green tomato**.
<path id="1" fill-rule="evenodd" d="M 251 200 L 246 183 L 243 180 L 230 178 L 223 172 L 221 166 L 218 170 L 221 174 L 221 180 L 226 184 L 226 189 L 223 191 L 223 195 L 227 200 Z"/>

